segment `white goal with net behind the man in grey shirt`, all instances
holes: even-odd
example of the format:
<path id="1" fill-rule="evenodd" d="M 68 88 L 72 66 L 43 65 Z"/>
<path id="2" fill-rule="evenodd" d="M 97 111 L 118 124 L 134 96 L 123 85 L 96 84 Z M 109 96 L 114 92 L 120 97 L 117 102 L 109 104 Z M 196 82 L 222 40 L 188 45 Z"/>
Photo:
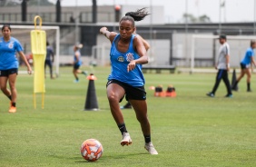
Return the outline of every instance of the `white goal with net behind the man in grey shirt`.
<path id="1" fill-rule="evenodd" d="M 220 47 L 218 38 L 219 35 L 213 34 L 192 34 L 190 73 L 195 71 L 195 59 L 207 59 L 213 61 L 212 64 L 216 63 Z M 231 67 L 240 66 L 241 58 L 250 47 L 251 40 L 256 40 L 256 35 L 227 35 L 227 43 L 231 49 Z"/>

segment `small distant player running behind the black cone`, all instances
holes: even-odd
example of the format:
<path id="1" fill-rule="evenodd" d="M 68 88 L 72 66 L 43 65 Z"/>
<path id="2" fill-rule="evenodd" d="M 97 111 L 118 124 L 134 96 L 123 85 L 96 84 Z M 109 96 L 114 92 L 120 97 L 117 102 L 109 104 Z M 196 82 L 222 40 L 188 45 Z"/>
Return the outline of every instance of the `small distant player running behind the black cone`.
<path id="1" fill-rule="evenodd" d="M 80 49 L 83 47 L 83 44 L 75 44 L 74 45 L 74 66 L 73 66 L 73 74 L 74 74 L 74 83 L 79 83 L 79 78 L 77 74 L 87 74 L 85 71 L 79 70 L 82 65 L 81 53 Z"/>

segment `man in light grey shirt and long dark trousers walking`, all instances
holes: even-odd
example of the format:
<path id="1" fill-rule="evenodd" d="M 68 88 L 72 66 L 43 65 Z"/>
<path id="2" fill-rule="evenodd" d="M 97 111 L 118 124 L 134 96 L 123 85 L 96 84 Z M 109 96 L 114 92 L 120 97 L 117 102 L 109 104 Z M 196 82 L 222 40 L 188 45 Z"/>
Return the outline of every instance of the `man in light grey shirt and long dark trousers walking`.
<path id="1" fill-rule="evenodd" d="M 230 70 L 230 45 L 227 43 L 227 38 L 225 34 L 220 35 L 219 42 L 221 46 L 219 49 L 218 63 L 215 66 L 215 68 L 218 69 L 218 73 L 212 92 L 207 93 L 207 95 L 210 97 L 214 97 L 219 84 L 223 80 L 228 92 L 225 97 L 232 97 L 231 83 L 228 76 L 228 72 Z"/>

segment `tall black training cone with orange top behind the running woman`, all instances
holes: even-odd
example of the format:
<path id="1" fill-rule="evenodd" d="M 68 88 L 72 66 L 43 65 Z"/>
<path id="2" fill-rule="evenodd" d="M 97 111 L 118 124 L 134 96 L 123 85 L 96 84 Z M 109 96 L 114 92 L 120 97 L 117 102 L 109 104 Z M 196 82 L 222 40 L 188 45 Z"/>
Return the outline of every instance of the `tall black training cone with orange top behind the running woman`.
<path id="1" fill-rule="evenodd" d="M 96 80 L 97 78 L 94 76 L 94 74 L 90 74 L 87 76 L 87 79 L 89 80 L 89 85 L 87 89 L 84 110 L 97 111 L 99 110 L 99 107 L 98 107 L 98 101 L 96 97 L 95 86 L 94 86 L 94 80 Z"/>

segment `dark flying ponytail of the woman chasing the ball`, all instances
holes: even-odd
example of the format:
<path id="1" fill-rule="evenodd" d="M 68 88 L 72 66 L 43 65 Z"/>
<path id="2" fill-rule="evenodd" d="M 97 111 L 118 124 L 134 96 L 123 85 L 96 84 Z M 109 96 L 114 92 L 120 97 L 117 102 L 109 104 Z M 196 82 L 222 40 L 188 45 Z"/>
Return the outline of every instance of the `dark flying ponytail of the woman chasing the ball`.
<path id="1" fill-rule="evenodd" d="M 141 21 L 147 15 L 150 14 L 148 14 L 146 7 L 143 7 L 142 9 L 138 9 L 136 12 L 127 12 L 125 16 L 122 17 L 120 22 L 123 20 L 129 20 L 133 23 L 133 25 L 135 25 L 134 21 Z"/>

